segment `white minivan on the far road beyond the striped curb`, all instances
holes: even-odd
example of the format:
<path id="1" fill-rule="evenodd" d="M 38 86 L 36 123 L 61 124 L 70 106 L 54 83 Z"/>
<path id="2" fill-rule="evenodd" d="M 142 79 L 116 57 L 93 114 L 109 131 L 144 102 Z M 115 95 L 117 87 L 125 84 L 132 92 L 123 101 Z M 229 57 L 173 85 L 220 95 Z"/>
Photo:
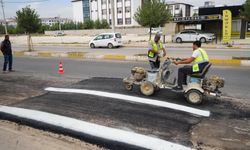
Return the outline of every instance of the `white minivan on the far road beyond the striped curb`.
<path id="1" fill-rule="evenodd" d="M 120 47 L 122 46 L 122 36 L 120 33 L 102 33 L 89 42 L 91 48 L 95 47 Z"/>

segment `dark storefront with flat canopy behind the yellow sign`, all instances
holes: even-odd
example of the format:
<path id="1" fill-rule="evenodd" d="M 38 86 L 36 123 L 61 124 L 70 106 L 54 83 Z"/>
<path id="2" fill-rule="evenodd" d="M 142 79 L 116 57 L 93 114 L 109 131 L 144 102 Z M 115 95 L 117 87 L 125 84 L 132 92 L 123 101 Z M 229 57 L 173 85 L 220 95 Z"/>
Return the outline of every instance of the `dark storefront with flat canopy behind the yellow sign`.
<path id="1" fill-rule="evenodd" d="M 232 37 L 244 39 L 245 36 L 250 36 L 250 32 L 247 30 L 247 22 L 240 17 L 242 8 L 242 5 L 200 7 L 198 16 L 174 18 L 174 22 L 177 23 L 176 32 L 187 26 L 200 26 L 202 31 L 214 33 L 220 40 L 222 39 L 223 10 L 230 10 L 232 12 Z"/>

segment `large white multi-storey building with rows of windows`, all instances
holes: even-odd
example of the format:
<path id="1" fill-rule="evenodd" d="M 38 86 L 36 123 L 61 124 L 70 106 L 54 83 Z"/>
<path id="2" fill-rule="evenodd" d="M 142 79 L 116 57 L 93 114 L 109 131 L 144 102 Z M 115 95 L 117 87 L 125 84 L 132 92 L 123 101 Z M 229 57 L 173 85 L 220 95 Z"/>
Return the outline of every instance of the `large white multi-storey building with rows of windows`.
<path id="1" fill-rule="evenodd" d="M 114 0 L 114 16 L 116 27 L 139 26 L 133 19 L 143 0 Z M 110 0 L 73 0 L 74 21 L 84 22 L 86 19 L 107 20 L 111 24 Z"/>

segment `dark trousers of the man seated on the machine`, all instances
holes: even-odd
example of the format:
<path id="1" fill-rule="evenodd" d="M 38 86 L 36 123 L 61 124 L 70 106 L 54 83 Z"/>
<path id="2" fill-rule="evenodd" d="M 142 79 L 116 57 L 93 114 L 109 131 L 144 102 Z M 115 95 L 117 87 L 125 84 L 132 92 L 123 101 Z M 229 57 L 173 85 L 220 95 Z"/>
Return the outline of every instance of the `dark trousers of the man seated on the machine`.
<path id="1" fill-rule="evenodd" d="M 179 68 L 178 71 L 178 86 L 182 87 L 183 84 L 187 83 L 187 75 L 193 74 L 192 66 L 184 66 Z"/>

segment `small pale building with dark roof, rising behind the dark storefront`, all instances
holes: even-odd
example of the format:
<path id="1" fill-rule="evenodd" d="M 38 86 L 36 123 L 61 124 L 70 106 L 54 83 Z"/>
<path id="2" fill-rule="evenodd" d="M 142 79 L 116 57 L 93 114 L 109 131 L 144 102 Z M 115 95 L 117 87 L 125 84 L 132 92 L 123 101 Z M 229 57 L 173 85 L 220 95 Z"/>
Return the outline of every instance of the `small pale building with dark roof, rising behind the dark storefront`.
<path id="1" fill-rule="evenodd" d="M 177 3 L 174 1 L 166 2 L 168 9 L 173 17 L 190 17 L 193 16 L 193 5 L 186 3 Z"/>

